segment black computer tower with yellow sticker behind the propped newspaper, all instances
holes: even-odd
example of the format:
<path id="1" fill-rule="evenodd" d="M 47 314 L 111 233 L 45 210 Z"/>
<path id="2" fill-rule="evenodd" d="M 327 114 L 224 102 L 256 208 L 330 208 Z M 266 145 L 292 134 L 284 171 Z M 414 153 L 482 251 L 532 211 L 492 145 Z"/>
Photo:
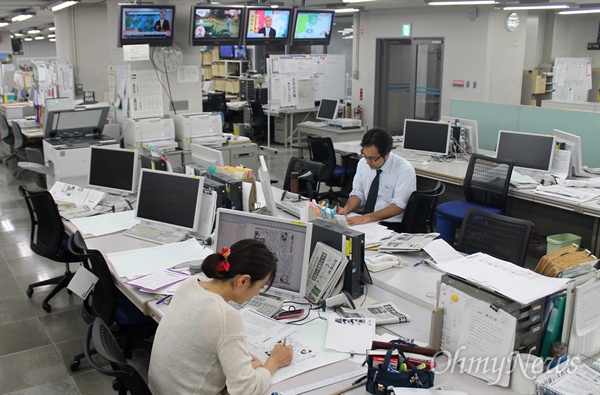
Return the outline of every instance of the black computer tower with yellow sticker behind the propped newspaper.
<path id="1" fill-rule="evenodd" d="M 371 276 L 365 267 L 365 234 L 346 226 L 317 219 L 312 221 L 313 234 L 310 245 L 312 254 L 317 242 L 322 242 L 348 256 L 348 264 L 344 270 L 343 290 L 353 299 L 363 294 L 363 284 L 371 283 Z"/>

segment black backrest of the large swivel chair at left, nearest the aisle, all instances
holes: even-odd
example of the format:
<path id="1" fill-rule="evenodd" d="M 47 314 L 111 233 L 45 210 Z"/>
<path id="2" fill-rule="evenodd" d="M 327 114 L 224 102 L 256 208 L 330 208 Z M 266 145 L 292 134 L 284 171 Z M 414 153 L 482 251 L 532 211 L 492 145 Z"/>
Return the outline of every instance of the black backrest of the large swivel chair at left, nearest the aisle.
<path id="1" fill-rule="evenodd" d="M 50 192 L 32 192 L 20 185 L 19 193 L 25 198 L 31 218 L 31 250 L 53 260 L 63 257 L 65 228 Z"/>

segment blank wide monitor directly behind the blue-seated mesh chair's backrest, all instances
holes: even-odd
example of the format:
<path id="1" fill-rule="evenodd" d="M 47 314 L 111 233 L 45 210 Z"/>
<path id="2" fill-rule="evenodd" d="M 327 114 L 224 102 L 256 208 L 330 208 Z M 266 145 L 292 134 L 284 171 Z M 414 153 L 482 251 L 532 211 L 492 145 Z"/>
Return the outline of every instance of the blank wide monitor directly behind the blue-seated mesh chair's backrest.
<path id="1" fill-rule="evenodd" d="M 553 135 L 512 132 L 498 133 L 496 158 L 512 160 L 517 167 L 549 171 L 554 156 Z"/>

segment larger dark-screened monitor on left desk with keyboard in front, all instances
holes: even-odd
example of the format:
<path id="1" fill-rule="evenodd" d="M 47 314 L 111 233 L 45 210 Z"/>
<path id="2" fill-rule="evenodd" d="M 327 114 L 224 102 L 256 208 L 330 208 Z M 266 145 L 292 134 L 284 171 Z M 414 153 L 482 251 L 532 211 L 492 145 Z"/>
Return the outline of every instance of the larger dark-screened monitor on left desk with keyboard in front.
<path id="1" fill-rule="evenodd" d="M 142 169 L 135 217 L 195 231 L 200 218 L 204 178 Z"/>

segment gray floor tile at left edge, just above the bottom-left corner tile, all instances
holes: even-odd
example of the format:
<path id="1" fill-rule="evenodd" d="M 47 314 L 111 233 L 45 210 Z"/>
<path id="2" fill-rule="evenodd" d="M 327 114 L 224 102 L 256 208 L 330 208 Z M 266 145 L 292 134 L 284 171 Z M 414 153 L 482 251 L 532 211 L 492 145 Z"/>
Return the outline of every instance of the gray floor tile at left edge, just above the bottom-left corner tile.
<path id="1" fill-rule="evenodd" d="M 0 355 L 18 353 L 51 343 L 37 318 L 2 324 L 0 333 Z"/>

